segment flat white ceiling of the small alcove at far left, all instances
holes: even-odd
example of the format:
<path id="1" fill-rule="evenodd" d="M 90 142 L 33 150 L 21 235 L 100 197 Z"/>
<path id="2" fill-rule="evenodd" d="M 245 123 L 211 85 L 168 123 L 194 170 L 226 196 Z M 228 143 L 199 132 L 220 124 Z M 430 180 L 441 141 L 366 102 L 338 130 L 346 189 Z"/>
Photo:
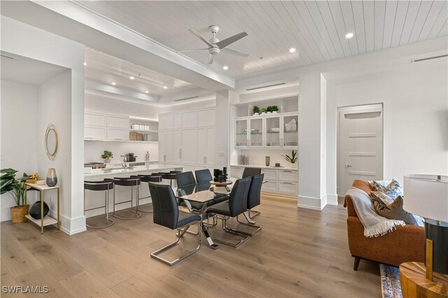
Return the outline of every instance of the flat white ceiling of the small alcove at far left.
<path id="1" fill-rule="evenodd" d="M 1 79 L 29 85 L 41 85 L 50 78 L 67 71 L 65 67 L 45 63 L 1 51 Z M 8 57 L 13 57 L 11 59 Z"/>

